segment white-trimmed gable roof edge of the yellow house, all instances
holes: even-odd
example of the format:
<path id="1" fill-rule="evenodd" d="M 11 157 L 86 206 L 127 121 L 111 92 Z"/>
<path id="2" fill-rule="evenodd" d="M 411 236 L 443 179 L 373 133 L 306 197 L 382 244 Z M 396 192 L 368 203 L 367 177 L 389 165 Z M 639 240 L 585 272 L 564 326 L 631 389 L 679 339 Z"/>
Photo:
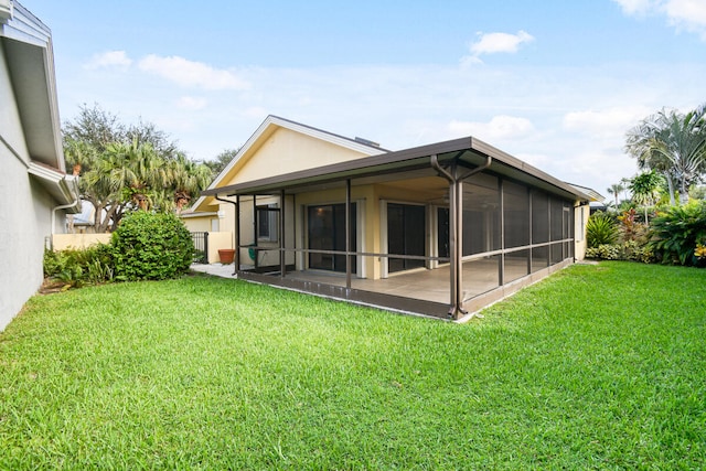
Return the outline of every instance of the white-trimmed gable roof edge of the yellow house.
<path id="1" fill-rule="evenodd" d="M 350 149 L 355 152 L 360 152 L 363 156 L 376 156 L 381 153 L 386 153 L 388 150 L 381 148 L 379 146 L 371 142 L 366 139 L 361 138 L 346 138 L 333 132 L 324 131 L 319 128 L 314 128 L 312 126 L 303 125 L 301 122 L 292 121 L 289 119 L 281 118 L 279 116 L 269 115 L 263 124 L 257 128 L 257 130 L 250 136 L 250 138 L 243 144 L 243 147 L 238 150 L 236 156 L 231 160 L 231 162 L 216 175 L 213 182 L 208 185 L 206 191 L 217 190 L 220 185 L 232 174 L 232 171 L 240 163 L 249 159 L 257 149 L 277 130 L 277 129 L 288 129 L 295 132 L 298 132 L 303 136 L 309 136 L 311 138 L 318 139 L 323 142 L 329 142 L 334 146 Z M 212 193 L 216 194 L 216 193 Z M 192 211 L 196 211 L 200 206 L 202 206 L 206 199 L 211 195 L 202 195 L 196 200 L 196 202 L 191 206 Z M 211 196 L 212 197 L 212 196 Z"/>

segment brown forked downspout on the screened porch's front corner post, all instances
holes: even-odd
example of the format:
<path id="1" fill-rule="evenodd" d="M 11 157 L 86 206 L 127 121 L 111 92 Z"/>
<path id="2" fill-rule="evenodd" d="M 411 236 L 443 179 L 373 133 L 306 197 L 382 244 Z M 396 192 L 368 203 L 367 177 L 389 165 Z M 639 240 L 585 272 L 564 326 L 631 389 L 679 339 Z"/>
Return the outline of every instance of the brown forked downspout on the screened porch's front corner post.
<path id="1" fill-rule="evenodd" d="M 490 156 L 485 156 L 485 163 L 459 175 L 456 162 L 452 165 L 451 172 L 449 172 L 439 164 L 437 154 L 431 156 L 431 168 L 436 170 L 440 176 L 449 181 L 449 249 L 451 251 L 451 259 L 449 260 L 451 268 L 450 319 L 456 320 L 461 315 L 468 314 L 468 311 L 463 309 L 463 194 L 461 183 L 475 173 L 488 169 L 492 161 Z"/>

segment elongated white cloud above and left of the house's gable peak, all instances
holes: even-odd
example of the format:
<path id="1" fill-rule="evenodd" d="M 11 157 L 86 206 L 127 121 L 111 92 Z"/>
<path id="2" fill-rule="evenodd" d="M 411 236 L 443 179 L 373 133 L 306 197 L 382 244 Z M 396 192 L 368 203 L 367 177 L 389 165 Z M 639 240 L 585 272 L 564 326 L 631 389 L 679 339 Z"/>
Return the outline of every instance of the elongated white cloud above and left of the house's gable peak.
<path id="1" fill-rule="evenodd" d="M 208 90 L 248 88 L 248 83 L 231 71 L 214 68 L 201 62 L 189 61 L 180 56 L 160 57 L 150 54 L 139 63 L 140 69 L 157 74 L 183 87 L 197 87 Z"/>

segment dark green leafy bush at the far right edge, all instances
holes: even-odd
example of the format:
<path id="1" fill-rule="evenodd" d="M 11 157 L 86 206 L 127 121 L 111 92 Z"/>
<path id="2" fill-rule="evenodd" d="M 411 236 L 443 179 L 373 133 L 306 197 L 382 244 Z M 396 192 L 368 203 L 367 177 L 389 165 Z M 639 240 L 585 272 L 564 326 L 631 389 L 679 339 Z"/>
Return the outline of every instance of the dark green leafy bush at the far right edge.
<path id="1" fill-rule="evenodd" d="M 657 213 L 650 236 L 649 246 L 663 264 L 705 266 L 698 246 L 706 245 L 706 202 L 672 206 Z"/>

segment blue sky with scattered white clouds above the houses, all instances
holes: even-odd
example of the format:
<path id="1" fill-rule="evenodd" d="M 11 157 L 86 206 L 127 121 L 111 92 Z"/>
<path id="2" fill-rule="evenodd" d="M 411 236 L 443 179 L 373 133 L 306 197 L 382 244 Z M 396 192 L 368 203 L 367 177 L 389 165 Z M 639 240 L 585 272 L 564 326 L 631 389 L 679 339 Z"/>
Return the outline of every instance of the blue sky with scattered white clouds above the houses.
<path id="1" fill-rule="evenodd" d="M 97 103 L 201 160 L 271 114 L 393 150 L 474 136 L 608 195 L 628 129 L 706 101 L 706 0 L 22 4 L 62 119 Z"/>

